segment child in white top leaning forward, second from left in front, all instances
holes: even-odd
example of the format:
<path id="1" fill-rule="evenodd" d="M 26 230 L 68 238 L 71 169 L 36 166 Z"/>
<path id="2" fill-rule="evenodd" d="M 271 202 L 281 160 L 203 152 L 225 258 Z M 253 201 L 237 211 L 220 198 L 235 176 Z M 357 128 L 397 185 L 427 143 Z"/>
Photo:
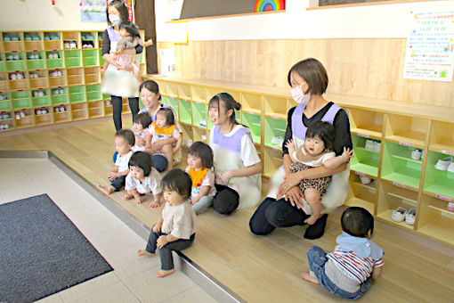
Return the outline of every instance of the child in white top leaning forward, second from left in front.
<path id="1" fill-rule="evenodd" d="M 142 195 L 153 193 L 153 201 L 150 208 L 158 208 L 161 200 L 161 175 L 153 168 L 151 155 L 148 152 L 136 151 L 129 160 L 129 174 L 126 176 L 125 189 L 127 194 L 124 200 L 133 199 L 135 203 L 141 204 Z"/>

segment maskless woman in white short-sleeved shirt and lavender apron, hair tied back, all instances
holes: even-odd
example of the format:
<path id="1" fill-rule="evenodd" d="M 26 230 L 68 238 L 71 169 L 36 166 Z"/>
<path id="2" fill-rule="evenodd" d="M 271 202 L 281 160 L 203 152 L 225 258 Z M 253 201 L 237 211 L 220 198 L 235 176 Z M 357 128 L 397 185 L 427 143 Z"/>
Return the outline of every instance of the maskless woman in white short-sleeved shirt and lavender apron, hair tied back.
<path id="1" fill-rule="evenodd" d="M 231 94 L 216 94 L 208 104 L 215 127 L 210 146 L 215 160 L 215 211 L 229 215 L 237 208 L 256 206 L 262 196 L 262 163 L 247 127 L 235 119 L 241 104 Z"/>

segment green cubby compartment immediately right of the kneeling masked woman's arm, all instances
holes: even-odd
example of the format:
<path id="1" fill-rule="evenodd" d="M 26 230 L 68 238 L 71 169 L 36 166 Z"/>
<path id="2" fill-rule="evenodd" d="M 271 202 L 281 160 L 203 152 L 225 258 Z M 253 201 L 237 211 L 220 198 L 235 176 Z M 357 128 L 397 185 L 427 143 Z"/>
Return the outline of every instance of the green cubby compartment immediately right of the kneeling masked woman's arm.
<path id="1" fill-rule="evenodd" d="M 380 164 L 381 141 L 367 139 L 359 135 L 352 135 L 353 158 L 350 160 L 350 169 L 368 176 L 378 176 Z"/>

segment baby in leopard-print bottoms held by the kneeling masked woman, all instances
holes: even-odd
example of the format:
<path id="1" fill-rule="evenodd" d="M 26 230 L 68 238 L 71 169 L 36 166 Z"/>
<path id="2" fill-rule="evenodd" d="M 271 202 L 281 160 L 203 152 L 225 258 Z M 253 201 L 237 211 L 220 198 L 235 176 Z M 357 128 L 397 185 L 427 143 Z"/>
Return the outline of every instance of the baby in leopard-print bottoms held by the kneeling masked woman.
<path id="1" fill-rule="evenodd" d="M 288 171 L 296 173 L 308 168 L 316 168 L 321 165 L 326 168 L 337 168 L 348 162 L 352 157 L 352 151 L 345 149 L 342 155 L 337 156 L 333 150 L 335 138 L 334 127 L 328 122 L 317 122 L 307 127 L 304 144 L 296 151 L 293 140 L 288 140 L 288 155 L 292 164 Z M 304 223 L 313 225 L 320 217 L 321 196 L 327 191 L 331 176 L 324 176 L 315 179 L 304 179 L 299 184 L 304 193 L 304 200 L 307 201 L 312 210 L 311 217 L 304 220 Z"/>

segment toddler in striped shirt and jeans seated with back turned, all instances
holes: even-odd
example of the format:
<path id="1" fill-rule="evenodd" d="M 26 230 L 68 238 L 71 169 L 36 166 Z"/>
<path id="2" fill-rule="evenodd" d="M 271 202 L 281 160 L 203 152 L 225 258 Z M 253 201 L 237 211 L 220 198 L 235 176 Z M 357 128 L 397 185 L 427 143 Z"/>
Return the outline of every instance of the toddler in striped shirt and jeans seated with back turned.
<path id="1" fill-rule="evenodd" d="M 307 250 L 309 273 L 301 277 L 317 283 L 328 292 L 345 299 L 358 299 L 382 273 L 383 250 L 369 239 L 374 217 L 368 210 L 352 207 L 341 217 L 343 233 L 328 254 L 318 246 Z"/>

